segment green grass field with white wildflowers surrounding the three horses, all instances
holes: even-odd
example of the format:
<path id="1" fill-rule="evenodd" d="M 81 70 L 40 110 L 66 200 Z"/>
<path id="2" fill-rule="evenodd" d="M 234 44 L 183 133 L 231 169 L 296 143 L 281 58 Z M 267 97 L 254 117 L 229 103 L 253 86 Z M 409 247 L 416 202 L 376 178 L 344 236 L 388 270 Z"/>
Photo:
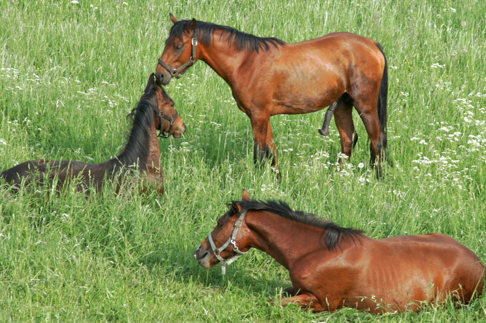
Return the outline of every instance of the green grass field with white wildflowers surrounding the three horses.
<path id="1" fill-rule="evenodd" d="M 388 145 L 375 179 L 369 144 L 344 167 L 324 111 L 271 119 L 282 179 L 253 167 L 249 119 L 198 62 L 166 90 L 188 130 L 160 140 L 166 194 L 109 185 L 0 188 L 1 322 L 479 322 L 469 306 L 375 316 L 312 314 L 267 300 L 287 271 L 252 250 L 221 275 L 194 249 L 251 197 L 283 199 L 373 238 L 442 232 L 486 261 L 486 7 L 483 0 L 79 0 L 0 2 L 0 170 L 31 159 L 102 162 L 123 147 L 125 116 L 155 71 L 172 25 L 196 18 L 298 42 L 335 31 L 379 41 L 389 65 Z M 363 164 L 364 166 L 363 166 Z"/>

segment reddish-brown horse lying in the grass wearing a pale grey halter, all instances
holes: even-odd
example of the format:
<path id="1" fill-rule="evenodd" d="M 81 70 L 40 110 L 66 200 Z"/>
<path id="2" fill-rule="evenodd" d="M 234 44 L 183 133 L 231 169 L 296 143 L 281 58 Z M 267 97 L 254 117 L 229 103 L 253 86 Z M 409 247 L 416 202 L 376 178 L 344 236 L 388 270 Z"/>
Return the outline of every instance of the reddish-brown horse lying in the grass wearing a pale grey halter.
<path id="1" fill-rule="evenodd" d="M 284 266 L 292 287 L 280 303 L 314 312 L 354 307 L 375 314 L 416 311 L 452 300 L 468 304 L 484 289 L 485 267 L 460 242 L 441 233 L 372 239 L 282 201 L 241 201 L 219 218 L 194 253 L 208 269 L 250 248 Z M 219 246 L 219 247 L 216 247 Z"/>

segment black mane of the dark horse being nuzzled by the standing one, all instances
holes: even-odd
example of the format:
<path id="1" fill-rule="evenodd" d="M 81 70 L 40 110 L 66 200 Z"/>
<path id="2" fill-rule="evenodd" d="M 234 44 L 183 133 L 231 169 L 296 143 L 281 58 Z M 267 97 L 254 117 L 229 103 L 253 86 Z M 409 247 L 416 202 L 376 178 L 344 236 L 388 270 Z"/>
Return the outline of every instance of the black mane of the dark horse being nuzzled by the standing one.
<path id="1" fill-rule="evenodd" d="M 121 169 L 134 169 L 134 166 L 138 170 L 147 168 L 150 131 L 156 112 L 159 111 L 156 100 L 155 87 L 153 87 L 140 98 L 137 107 L 127 115 L 127 119 L 133 119 L 127 143 L 116 158 L 108 161 L 110 165 L 107 170 L 118 172 Z"/>

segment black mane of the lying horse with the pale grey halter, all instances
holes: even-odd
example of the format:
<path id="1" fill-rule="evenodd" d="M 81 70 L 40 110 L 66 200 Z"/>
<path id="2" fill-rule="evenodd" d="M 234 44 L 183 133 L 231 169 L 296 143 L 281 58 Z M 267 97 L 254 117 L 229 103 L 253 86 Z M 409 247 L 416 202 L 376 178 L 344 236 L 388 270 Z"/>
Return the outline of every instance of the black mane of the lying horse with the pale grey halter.
<path id="1" fill-rule="evenodd" d="M 315 214 L 304 213 L 302 211 L 292 210 L 287 203 L 283 201 L 238 201 L 235 202 L 242 207 L 243 211 L 258 210 L 258 211 L 268 211 L 277 214 L 285 219 L 300 222 L 308 226 L 315 226 L 323 228 L 326 230 L 324 235 L 325 243 L 329 250 L 334 250 L 336 248 L 336 243 L 339 248 L 341 248 L 341 239 L 343 236 L 354 239 L 358 239 L 363 235 L 363 230 L 353 229 L 350 227 L 338 226 L 334 222 L 319 219 Z"/>

